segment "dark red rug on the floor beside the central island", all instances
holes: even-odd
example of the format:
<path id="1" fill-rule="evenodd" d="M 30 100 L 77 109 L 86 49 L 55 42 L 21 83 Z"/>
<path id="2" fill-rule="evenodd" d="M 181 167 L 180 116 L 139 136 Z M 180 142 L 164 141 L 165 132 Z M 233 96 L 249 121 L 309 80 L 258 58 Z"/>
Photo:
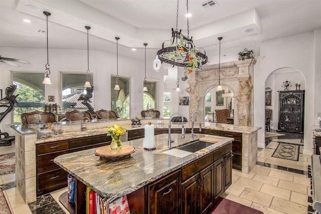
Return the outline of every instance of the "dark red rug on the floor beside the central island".
<path id="1" fill-rule="evenodd" d="M 263 212 L 252 207 L 234 202 L 232 200 L 220 197 L 215 206 L 209 212 L 210 214 L 263 214 Z"/>

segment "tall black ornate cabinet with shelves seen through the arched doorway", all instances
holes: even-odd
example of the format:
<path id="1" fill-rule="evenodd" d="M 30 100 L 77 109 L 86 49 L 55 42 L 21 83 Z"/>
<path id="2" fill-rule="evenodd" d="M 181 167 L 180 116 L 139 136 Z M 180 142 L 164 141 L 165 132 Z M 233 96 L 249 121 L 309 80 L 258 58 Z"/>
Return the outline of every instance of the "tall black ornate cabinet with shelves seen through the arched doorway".
<path id="1" fill-rule="evenodd" d="M 304 130 L 304 90 L 278 91 L 278 130 L 303 133 Z"/>

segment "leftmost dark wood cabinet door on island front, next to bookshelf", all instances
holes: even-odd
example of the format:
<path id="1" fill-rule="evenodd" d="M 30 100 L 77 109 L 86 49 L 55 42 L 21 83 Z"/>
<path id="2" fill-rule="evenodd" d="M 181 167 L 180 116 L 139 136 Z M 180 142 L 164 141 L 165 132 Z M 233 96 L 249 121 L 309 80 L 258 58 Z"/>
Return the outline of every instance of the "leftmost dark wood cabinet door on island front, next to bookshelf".
<path id="1" fill-rule="evenodd" d="M 148 212 L 180 213 L 181 170 L 148 185 Z"/>

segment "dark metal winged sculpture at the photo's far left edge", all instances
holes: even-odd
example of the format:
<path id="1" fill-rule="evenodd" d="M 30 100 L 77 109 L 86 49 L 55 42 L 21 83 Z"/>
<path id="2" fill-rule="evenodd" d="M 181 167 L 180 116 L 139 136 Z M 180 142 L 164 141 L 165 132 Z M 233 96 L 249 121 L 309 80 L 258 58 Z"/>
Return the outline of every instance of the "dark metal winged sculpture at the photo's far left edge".
<path id="1" fill-rule="evenodd" d="M 16 98 L 19 96 L 19 94 L 14 95 L 16 89 L 17 85 L 11 85 L 7 87 L 5 91 L 6 97 L 0 100 L 0 107 L 7 108 L 6 111 L 0 113 L 0 123 L 6 117 L 6 115 L 14 109 L 15 103 L 18 104 Z M 3 138 L 2 135 L 5 137 Z M 10 146 L 11 141 L 13 140 L 15 140 L 15 136 L 9 136 L 7 132 L 1 132 L 0 130 L 0 146 Z"/>

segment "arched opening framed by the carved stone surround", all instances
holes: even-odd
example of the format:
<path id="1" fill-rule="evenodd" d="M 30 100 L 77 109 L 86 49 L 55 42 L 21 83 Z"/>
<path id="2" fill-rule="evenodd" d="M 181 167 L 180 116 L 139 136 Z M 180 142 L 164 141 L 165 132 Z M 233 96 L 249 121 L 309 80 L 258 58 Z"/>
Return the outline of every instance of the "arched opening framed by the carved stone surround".
<path id="1" fill-rule="evenodd" d="M 204 98 L 205 122 L 217 122 L 215 110 L 228 109 L 230 118 L 234 117 L 234 93 L 227 86 L 217 91 L 217 86 L 210 88 Z M 233 120 L 233 119 L 231 119 Z"/>

